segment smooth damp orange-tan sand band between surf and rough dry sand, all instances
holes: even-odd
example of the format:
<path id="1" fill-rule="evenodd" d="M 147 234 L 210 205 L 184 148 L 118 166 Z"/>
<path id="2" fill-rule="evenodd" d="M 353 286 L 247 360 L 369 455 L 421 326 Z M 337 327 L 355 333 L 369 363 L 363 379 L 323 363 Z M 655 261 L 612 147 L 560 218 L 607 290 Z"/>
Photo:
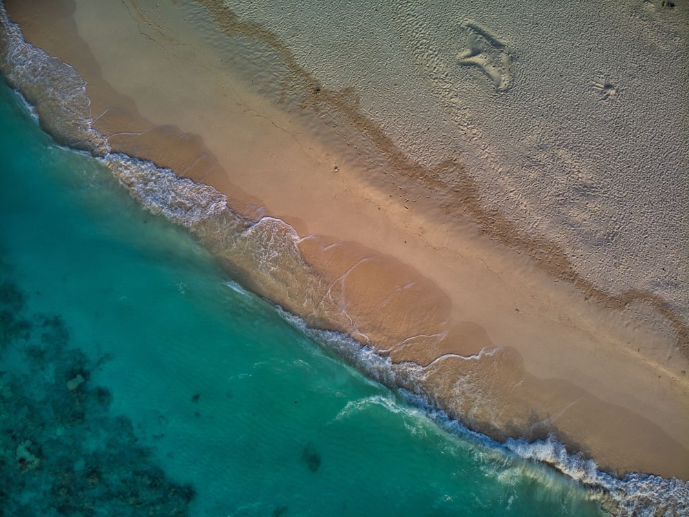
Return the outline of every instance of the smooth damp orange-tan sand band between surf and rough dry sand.
<path id="1" fill-rule="evenodd" d="M 415 363 L 449 414 L 491 436 L 554 431 L 603 468 L 689 478 L 686 325 L 662 301 L 597 290 L 557 246 L 483 212 L 469 179 L 444 188 L 461 163 L 414 165 L 356 92 L 321 89 L 258 26 L 198 3 L 5 3 L 87 81 L 113 150 L 291 224 L 339 313 L 245 278 L 258 292 Z"/>

